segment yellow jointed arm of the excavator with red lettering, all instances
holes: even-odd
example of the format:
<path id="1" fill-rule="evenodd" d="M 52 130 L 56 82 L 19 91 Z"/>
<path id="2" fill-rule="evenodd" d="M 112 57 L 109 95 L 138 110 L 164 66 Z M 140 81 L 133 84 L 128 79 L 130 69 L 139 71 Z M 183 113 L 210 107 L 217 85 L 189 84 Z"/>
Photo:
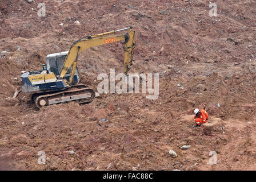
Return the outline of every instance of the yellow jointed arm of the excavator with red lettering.
<path id="1" fill-rule="evenodd" d="M 105 35 L 115 34 L 115 32 L 127 30 L 127 29 L 129 29 L 129 32 L 123 35 L 105 36 Z M 70 47 L 69 53 L 67 54 L 65 62 L 63 64 L 59 79 L 62 79 L 66 75 L 67 70 L 70 67 L 72 67 L 69 84 L 72 83 L 74 73 L 75 73 L 75 68 L 77 67 L 78 55 L 85 49 L 90 47 L 100 46 L 103 44 L 118 42 L 121 40 L 124 41 L 123 49 L 125 51 L 125 59 L 123 61 L 123 64 L 124 64 L 123 72 L 126 74 L 129 71 L 130 66 L 133 64 L 133 54 L 134 54 L 134 48 L 135 48 L 134 34 L 135 34 L 135 31 L 133 27 L 130 27 L 130 28 L 123 28 L 121 30 L 116 30 L 116 31 L 113 30 L 110 32 L 105 32 L 105 33 L 97 34 L 93 36 L 87 36 L 86 38 L 77 40 L 77 42 L 75 42 Z"/>

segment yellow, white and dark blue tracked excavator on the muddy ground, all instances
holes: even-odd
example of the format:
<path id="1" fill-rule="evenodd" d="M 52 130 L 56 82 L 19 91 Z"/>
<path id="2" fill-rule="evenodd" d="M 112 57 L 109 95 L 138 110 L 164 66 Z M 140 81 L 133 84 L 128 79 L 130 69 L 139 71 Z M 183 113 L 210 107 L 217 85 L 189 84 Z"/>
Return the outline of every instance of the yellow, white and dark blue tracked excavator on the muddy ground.
<path id="1" fill-rule="evenodd" d="M 129 31 L 121 35 L 111 35 L 125 30 Z M 47 55 L 46 64 L 42 65 L 42 70 L 22 74 L 22 92 L 32 94 L 32 99 L 39 108 L 61 102 L 75 101 L 81 104 L 93 101 L 94 90 L 84 84 L 79 84 L 78 55 L 90 47 L 123 41 L 125 51 L 123 73 L 126 74 L 133 64 L 134 34 L 134 28 L 129 27 L 86 36 L 74 42 L 69 51 Z"/>

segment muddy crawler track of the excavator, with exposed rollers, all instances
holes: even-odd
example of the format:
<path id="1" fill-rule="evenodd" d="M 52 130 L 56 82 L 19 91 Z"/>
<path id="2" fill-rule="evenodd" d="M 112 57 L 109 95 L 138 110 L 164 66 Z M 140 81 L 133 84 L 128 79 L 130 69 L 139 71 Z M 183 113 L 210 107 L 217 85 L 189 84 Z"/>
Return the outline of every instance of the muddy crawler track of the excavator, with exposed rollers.
<path id="1" fill-rule="evenodd" d="M 46 105 L 59 104 L 62 102 L 78 102 L 79 104 L 91 102 L 95 98 L 93 89 L 83 84 L 71 86 L 60 92 L 34 96 L 33 100 L 38 108 Z"/>

